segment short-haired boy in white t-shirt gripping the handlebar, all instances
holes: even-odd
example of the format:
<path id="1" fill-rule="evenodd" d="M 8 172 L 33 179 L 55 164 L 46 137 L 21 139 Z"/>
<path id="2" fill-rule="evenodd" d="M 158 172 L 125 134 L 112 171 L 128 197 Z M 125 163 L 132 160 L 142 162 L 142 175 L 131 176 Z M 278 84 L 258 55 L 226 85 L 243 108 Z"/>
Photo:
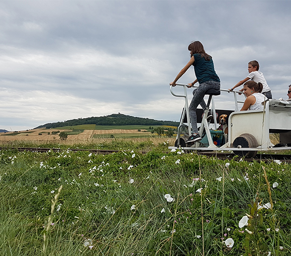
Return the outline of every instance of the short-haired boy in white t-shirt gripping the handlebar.
<path id="1" fill-rule="evenodd" d="M 248 71 L 249 71 L 250 74 L 244 80 L 238 82 L 236 85 L 234 85 L 229 90 L 234 90 L 234 88 L 236 88 L 236 87 L 238 87 L 240 85 L 243 85 L 248 80 L 252 80 L 252 81 L 254 81 L 256 83 L 262 83 L 263 90 L 262 90 L 261 93 L 266 95 L 267 98 L 271 99 L 272 98 L 271 88 L 267 84 L 267 81 L 266 81 L 263 73 L 259 71 L 259 68 L 260 68 L 259 63 L 257 61 L 250 61 L 248 64 L 249 64 L 248 65 Z M 241 89 L 241 91 L 242 90 L 243 89 Z"/>

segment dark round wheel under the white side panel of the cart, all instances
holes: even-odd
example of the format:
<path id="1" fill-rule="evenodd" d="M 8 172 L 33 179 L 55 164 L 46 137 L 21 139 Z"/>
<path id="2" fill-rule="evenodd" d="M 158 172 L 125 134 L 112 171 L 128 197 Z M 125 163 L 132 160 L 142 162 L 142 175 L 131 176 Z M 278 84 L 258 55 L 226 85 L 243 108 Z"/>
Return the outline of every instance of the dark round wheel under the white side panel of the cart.
<path id="1" fill-rule="evenodd" d="M 257 148 L 259 145 L 253 135 L 244 133 L 236 137 L 232 143 L 233 148 L 237 148 L 239 146 L 241 148 Z M 254 158 L 257 155 L 257 152 L 258 151 L 233 151 L 235 155 L 246 158 Z"/>

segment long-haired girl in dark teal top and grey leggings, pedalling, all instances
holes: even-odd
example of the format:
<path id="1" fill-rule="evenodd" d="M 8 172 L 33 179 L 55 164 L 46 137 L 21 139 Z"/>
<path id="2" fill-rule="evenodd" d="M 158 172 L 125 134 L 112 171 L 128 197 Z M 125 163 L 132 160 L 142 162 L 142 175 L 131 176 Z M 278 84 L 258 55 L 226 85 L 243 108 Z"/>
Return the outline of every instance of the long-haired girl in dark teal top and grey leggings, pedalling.
<path id="1" fill-rule="evenodd" d="M 196 79 L 191 84 L 188 84 L 188 88 L 192 87 L 195 83 L 199 83 L 198 88 L 193 91 L 193 98 L 189 106 L 190 122 L 192 126 L 193 134 L 189 137 L 189 142 L 195 142 L 201 140 L 197 128 L 197 116 L 196 109 L 200 104 L 202 109 L 206 108 L 204 101 L 204 95 L 206 90 L 220 89 L 220 80 L 214 70 L 214 64 L 212 57 L 205 53 L 203 45 L 199 41 L 194 41 L 188 46 L 191 59 L 186 66 L 179 72 L 175 80 L 170 85 L 175 86 L 177 81 L 185 74 L 185 72 L 193 65 Z M 211 117 L 211 116 L 210 116 Z"/>

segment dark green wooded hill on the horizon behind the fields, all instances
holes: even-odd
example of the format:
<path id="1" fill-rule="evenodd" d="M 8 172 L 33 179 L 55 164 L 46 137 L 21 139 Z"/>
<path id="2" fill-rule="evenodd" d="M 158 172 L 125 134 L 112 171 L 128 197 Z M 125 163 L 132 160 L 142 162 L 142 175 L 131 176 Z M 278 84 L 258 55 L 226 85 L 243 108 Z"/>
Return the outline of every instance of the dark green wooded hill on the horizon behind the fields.
<path id="1" fill-rule="evenodd" d="M 73 126 L 82 124 L 96 124 L 96 125 L 169 125 L 178 126 L 179 122 L 174 121 L 159 121 L 149 118 L 134 117 L 124 114 L 111 114 L 107 116 L 88 117 L 72 119 L 65 122 L 47 123 L 36 128 L 57 128 L 63 126 Z M 36 129 L 35 128 L 35 129 Z"/>

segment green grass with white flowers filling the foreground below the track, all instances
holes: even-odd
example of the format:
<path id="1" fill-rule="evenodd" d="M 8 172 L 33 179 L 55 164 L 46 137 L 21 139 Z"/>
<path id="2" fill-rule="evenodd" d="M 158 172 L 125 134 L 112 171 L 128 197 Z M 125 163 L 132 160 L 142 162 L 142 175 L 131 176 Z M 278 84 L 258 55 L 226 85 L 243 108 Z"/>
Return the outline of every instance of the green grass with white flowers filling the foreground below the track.
<path id="1" fill-rule="evenodd" d="M 167 147 L 166 140 L 156 147 L 112 140 L 97 148 L 121 151 L 104 156 L 0 151 L 0 255 L 291 254 L 290 164 L 221 161 Z M 269 192 L 274 209 L 254 210 L 254 201 L 270 202 Z M 250 225 L 239 228 L 246 214 Z M 223 244 L 228 238 L 231 249 Z"/>

